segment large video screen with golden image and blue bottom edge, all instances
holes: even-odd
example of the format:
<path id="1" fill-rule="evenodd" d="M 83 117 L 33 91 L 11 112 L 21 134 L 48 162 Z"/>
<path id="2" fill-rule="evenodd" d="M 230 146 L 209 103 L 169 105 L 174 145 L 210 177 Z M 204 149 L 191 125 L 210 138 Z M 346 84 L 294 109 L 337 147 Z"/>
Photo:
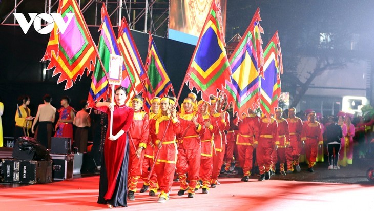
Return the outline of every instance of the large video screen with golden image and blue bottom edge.
<path id="1" fill-rule="evenodd" d="M 170 0 L 169 39 L 196 45 L 213 0 Z M 220 0 L 223 31 L 226 2 Z"/>

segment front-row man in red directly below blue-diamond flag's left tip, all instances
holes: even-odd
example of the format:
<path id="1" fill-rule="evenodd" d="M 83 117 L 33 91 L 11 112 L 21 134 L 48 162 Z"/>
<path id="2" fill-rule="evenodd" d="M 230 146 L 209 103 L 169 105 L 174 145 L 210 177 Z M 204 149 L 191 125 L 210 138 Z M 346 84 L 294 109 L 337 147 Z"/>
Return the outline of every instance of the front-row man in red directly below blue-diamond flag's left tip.
<path id="1" fill-rule="evenodd" d="M 178 196 L 184 195 L 184 192 L 188 190 L 188 197 L 194 198 L 201 157 L 199 135 L 205 133 L 205 123 L 201 114 L 193 110 L 191 98 L 185 98 L 182 107 L 184 111 L 180 113 L 180 123 L 183 134 L 180 134 L 178 142 L 177 162 L 177 174 L 180 181 Z M 190 181 L 189 184 L 187 184 L 187 180 Z"/>

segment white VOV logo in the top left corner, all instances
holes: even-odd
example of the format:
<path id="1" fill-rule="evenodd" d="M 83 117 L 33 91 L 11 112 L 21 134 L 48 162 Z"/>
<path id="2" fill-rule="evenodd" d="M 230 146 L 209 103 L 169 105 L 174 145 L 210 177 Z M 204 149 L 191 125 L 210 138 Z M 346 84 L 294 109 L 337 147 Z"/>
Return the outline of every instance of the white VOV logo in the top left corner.
<path id="1" fill-rule="evenodd" d="M 66 16 L 68 17 L 68 20 L 65 22 L 64 18 L 59 13 L 28 13 L 30 16 L 30 21 L 26 21 L 26 17 L 22 13 L 13 13 L 15 19 L 17 20 L 19 26 L 22 28 L 24 33 L 26 34 L 31 24 L 34 23 L 34 29 L 39 34 L 48 34 L 53 30 L 54 24 L 57 24 L 58 29 L 61 33 L 64 33 L 66 28 L 68 27 L 69 23 L 71 22 L 74 13 L 67 13 Z M 48 25 L 44 28 L 41 28 L 41 20 L 44 20 L 48 22 Z M 54 23 L 54 24 L 53 24 Z"/>

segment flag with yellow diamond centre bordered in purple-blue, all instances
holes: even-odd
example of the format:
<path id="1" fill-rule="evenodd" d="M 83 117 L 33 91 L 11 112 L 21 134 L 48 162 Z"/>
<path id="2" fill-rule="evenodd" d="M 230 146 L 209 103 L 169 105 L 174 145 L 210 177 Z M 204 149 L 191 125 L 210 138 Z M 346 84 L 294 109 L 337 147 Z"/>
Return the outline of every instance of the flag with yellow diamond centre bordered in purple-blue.
<path id="1" fill-rule="evenodd" d="M 248 114 L 247 109 L 253 110 L 258 106 L 260 98 L 259 59 L 256 48 L 257 39 L 261 39 L 260 33 L 260 10 L 257 9 L 251 24 L 245 31 L 242 39 L 230 57 L 232 70 L 231 83 L 226 83 L 225 93 L 227 102 L 233 103 L 233 112 L 238 113 L 239 119 L 242 114 Z M 256 32 L 257 31 L 257 32 Z"/>

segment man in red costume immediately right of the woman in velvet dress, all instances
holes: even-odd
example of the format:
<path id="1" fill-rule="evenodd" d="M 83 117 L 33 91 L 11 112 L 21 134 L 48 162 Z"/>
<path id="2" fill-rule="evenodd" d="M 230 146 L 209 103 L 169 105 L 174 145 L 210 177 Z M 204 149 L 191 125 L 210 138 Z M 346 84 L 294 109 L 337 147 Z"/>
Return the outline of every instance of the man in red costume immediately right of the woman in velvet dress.
<path id="1" fill-rule="evenodd" d="M 142 175 L 142 164 L 144 159 L 144 150 L 147 148 L 149 138 L 149 117 L 141 110 L 143 106 L 143 97 L 135 95 L 131 101 L 134 109 L 134 120 L 129 129 L 130 152 L 129 152 L 129 194 L 130 201 L 135 200 L 135 192 L 140 176 Z M 136 148 L 136 150 L 135 150 Z"/>

